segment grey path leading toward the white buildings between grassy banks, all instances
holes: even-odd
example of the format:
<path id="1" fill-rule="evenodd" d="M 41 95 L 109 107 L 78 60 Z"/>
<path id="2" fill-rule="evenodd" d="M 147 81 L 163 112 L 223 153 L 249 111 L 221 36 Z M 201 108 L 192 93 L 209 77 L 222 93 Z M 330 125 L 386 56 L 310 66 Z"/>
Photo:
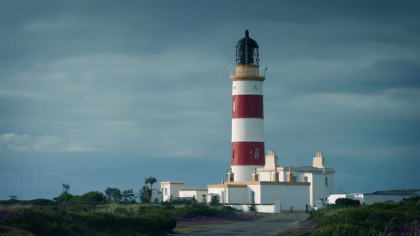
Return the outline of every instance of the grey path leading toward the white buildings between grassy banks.
<path id="1" fill-rule="evenodd" d="M 230 225 L 214 225 L 206 231 L 174 235 L 278 235 L 283 230 L 295 227 L 298 222 L 308 218 L 304 213 L 283 213 L 272 218 L 250 220 Z"/>

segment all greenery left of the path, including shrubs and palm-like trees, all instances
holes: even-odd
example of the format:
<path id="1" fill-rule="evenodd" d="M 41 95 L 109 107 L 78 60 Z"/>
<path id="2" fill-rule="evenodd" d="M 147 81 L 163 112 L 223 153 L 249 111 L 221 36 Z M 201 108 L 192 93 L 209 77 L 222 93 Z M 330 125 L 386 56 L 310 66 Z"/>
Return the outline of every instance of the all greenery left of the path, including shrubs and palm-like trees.
<path id="1" fill-rule="evenodd" d="M 232 214 L 231 208 L 207 207 L 196 198 L 174 199 L 149 204 L 154 177 L 145 179 L 140 190 L 141 204 L 132 189 L 90 191 L 83 195 L 63 192 L 53 200 L 0 200 L 0 235 L 162 235 L 173 232 L 177 218 L 211 217 Z M 159 200 L 157 200 L 159 203 Z"/>

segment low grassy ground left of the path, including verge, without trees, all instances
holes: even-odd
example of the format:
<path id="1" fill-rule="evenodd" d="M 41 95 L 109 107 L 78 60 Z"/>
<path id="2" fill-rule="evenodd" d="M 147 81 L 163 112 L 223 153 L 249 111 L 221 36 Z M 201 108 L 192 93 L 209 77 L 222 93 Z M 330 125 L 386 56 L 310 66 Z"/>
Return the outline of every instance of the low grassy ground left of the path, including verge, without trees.
<path id="1" fill-rule="evenodd" d="M 198 203 L 0 203 L 0 235 L 163 235 L 254 218 L 253 214 L 238 213 L 222 205 L 207 207 Z"/>

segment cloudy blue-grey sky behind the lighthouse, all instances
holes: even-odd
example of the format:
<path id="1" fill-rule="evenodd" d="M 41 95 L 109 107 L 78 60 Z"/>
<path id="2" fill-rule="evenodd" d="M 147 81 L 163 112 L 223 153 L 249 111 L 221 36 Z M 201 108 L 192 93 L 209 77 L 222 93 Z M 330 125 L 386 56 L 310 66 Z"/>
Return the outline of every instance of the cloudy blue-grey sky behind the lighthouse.
<path id="1" fill-rule="evenodd" d="M 347 193 L 420 188 L 419 1 L 0 1 L 0 199 L 220 183 L 235 46 L 266 150 Z M 225 177 L 226 178 L 226 177 Z M 157 184 L 158 185 L 158 184 Z"/>

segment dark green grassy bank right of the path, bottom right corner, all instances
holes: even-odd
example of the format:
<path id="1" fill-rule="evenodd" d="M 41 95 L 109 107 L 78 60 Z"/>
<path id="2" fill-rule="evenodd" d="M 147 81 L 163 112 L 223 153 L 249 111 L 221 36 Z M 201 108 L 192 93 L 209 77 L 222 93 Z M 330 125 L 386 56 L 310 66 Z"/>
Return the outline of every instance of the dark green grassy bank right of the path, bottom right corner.
<path id="1" fill-rule="evenodd" d="M 337 201 L 340 204 L 325 205 L 309 218 L 317 222 L 313 235 L 420 234 L 420 197 L 372 205 Z"/>

